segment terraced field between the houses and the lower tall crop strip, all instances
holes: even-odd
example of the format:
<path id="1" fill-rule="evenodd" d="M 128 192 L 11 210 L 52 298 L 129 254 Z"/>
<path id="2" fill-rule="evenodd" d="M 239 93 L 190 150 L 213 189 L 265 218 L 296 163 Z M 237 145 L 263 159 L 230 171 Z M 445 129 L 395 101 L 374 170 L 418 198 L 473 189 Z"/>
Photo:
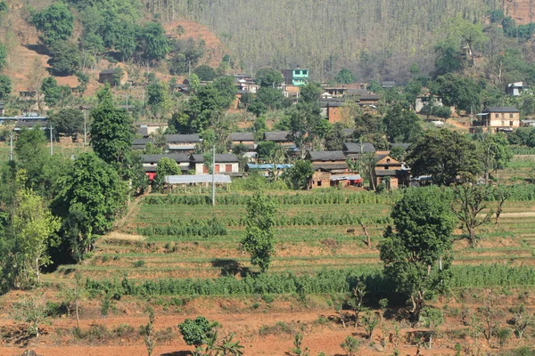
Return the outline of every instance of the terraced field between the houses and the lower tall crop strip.
<path id="1" fill-rule="evenodd" d="M 372 200 L 373 196 L 366 196 L 366 203 L 280 205 L 276 256 L 270 271 L 301 273 L 325 268 L 378 267 L 379 253 L 374 246 L 391 223 L 389 214 L 393 202 L 387 201 L 388 198 L 370 202 Z M 492 207 L 492 203 L 489 206 Z M 88 263 L 62 266 L 55 277 L 74 270 L 92 279 L 122 278 L 125 273 L 131 279 L 238 276 L 251 267 L 249 256 L 239 245 L 244 233 L 244 215 L 243 204 L 213 208 L 209 205 L 148 204 L 142 200 L 119 232 L 98 244 Z M 217 236 L 202 236 L 202 231 L 177 235 L 167 230 L 177 224 L 189 228 L 210 225 L 214 219 L 225 230 Z M 366 237 L 357 219 L 365 223 L 372 248 L 366 246 Z M 492 222 L 481 228 L 480 247 L 468 247 L 463 231 L 455 231 L 455 263 L 534 265 L 534 226 L 533 202 L 507 201 L 499 226 Z M 49 276 L 51 280 L 58 280 L 55 277 Z"/>

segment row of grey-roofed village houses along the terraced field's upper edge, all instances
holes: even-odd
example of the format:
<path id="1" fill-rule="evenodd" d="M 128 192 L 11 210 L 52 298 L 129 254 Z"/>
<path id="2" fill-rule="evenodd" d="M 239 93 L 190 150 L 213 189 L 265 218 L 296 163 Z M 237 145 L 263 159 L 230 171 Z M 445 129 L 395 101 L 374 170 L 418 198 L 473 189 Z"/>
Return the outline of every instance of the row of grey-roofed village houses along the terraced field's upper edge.
<path id="1" fill-rule="evenodd" d="M 148 133 L 146 128 L 140 130 Z M 350 134 L 350 129 L 347 130 Z M 202 142 L 198 134 L 169 134 L 165 135 L 167 142 L 165 154 L 147 154 L 142 156 L 144 172 L 152 180 L 156 174 L 158 161 L 161 158 L 170 158 L 177 162 L 183 174 L 206 175 L 210 174 L 205 165 L 204 156 L 195 154 L 196 147 Z M 228 136 L 232 147 L 242 144 L 247 151 L 243 158 L 238 158 L 233 153 L 215 155 L 214 174 L 240 177 L 243 174 L 282 174 L 284 170 L 292 167 L 291 164 L 272 164 L 270 162 L 258 162 L 256 159 L 256 142 L 252 133 L 232 133 Z M 290 132 L 271 131 L 263 135 L 263 141 L 275 142 L 289 152 L 294 152 L 295 145 L 292 142 Z M 148 142 L 153 142 L 151 137 L 137 139 L 134 149 L 143 150 Z M 404 146 L 407 148 L 407 145 Z M 363 177 L 358 171 L 351 169 L 348 162 L 358 161 L 366 153 L 373 154 L 375 160 L 374 185 L 382 182 L 389 188 L 396 189 L 399 186 L 409 184 L 410 171 L 402 162 L 391 158 L 390 151 L 376 151 L 372 143 L 346 142 L 342 150 L 313 151 L 309 150 L 304 156 L 309 160 L 314 170 L 314 175 L 309 182 L 309 188 L 325 188 L 330 186 L 362 186 Z M 243 166 L 241 166 L 243 165 Z M 275 171 L 275 173 L 274 173 Z"/>

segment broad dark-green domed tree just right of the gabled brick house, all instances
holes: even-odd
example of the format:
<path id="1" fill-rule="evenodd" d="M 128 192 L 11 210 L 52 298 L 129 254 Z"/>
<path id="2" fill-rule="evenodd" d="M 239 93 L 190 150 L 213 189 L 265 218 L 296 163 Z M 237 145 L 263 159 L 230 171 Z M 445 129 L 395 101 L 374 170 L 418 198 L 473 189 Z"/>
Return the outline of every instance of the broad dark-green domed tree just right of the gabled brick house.
<path id="1" fill-rule="evenodd" d="M 481 172 L 475 143 L 448 129 L 427 131 L 409 147 L 407 163 L 414 176 L 431 175 L 440 185 Z"/>

